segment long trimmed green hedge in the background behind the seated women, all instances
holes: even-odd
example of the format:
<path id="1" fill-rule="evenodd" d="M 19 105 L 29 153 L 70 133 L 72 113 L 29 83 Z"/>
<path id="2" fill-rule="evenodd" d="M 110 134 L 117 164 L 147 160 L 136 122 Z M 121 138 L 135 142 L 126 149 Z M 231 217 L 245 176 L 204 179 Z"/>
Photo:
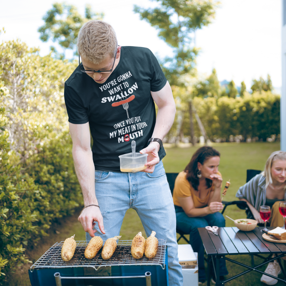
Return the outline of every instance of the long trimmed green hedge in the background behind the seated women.
<path id="1" fill-rule="evenodd" d="M 244 97 L 237 98 L 196 97 L 193 104 L 210 139 L 225 138 L 228 141 L 231 135 L 242 135 L 244 140 L 258 137 L 265 141 L 272 134 L 280 134 L 280 96 L 270 91 L 245 92 Z M 198 137 L 200 130 L 194 119 L 193 122 Z M 185 137 L 190 135 L 188 110 L 183 111 L 181 130 Z"/>

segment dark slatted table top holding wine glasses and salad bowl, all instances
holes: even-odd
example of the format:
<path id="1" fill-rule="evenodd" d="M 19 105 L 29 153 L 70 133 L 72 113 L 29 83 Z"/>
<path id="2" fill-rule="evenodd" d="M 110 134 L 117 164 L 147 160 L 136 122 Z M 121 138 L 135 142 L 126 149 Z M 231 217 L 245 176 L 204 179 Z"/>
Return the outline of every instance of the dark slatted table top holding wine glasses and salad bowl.
<path id="1" fill-rule="evenodd" d="M 204 227 L 198 228 L 198 231 L 207 255 L 286 253 L 286 244 L 264 240 L 260 229 L 263 227 L 256 227 L 253 231 L 240 231 L 237 227 L 220 227 L 218 236 Z"/>

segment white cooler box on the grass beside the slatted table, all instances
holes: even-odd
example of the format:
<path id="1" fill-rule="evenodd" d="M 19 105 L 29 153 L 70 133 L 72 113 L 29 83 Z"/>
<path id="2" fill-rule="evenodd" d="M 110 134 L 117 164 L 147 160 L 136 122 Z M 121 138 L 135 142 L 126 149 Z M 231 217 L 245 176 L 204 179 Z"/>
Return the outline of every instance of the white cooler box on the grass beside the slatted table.
<path id="1" fill-rule="evenodd" d="M 178 245 L 179 263 L 182 266 L 183 286 L 198 286 L 198 253 L 190 244 Z"/>

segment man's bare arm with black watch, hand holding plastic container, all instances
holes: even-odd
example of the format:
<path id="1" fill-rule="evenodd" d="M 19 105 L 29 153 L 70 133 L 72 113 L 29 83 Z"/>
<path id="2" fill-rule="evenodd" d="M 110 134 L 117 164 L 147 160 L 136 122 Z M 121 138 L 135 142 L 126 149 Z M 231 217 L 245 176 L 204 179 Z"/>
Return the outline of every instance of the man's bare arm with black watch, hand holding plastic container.
<path id="1" fill-rule="evenodd" d="M 158 106 L 158 113 L 156 117 L 156 124 L 152 137 L 163 138 L 169 132 L 172 124 L 174 122 L 176 105 L 174 102 L 172 89 L 170 84 L 166 82 L 166 85 L 159 91 L 152 92 L 152 98 L 156 105 Z M 149 138 L 148 138 L 149 139 Z M 148 161 L 145 166 L 148 166 L 144 172 L 153 173 L 155 165 L 159 163 L 160 159 L 158 156 L 158 151 L 160 149 L 160 144 L 156 141 L 151 142 L 146 148 L 142 149 L 140 153 L 148 153 Z"/>

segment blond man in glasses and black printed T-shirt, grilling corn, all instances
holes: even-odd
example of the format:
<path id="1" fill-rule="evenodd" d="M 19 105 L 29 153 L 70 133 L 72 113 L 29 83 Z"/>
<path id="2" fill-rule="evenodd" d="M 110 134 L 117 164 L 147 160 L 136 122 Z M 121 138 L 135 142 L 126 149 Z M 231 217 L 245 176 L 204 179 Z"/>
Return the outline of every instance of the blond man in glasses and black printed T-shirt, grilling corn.
<path id="1" fill-rule="evenodd" d="M 133 208 L 146 235 L 154 230 L 167 241 L 169 285 L 182 285 L 176 215 L 161 161 L 162 139 L 176 111 L 170 85 L 149 49 L 118 46 L 103 21 L 84 24 L 77 46 L 82 63 L 65 82 L 65 104 L 86 206 L 78 218 L 86 240 L 95 232 L 103 240 L 119 235 L 126 210 Z M 131 152 L 132 140 L 137 152 L 148 154 L 147 168 L 120 172 L 118 156 Z"/>

